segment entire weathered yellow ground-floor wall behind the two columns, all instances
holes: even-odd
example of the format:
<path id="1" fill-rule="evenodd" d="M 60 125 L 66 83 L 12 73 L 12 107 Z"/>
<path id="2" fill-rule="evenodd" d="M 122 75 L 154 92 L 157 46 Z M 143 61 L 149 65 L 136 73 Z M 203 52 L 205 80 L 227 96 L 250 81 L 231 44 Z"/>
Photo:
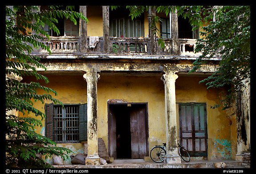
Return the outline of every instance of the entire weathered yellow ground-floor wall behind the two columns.
<path id="1" fill-rule="evenodd" d="M 47 87 L 55 89 L 56 97 L 65 103 L 87 103 L 87 83 L 80 75 L 50 75 Z M 98 137 L 108 148 L 108 109 L 109 99 L 122 99 L 127 102 L 148 103 L 149 148 L 166 142 L 164 83 L 161 75 L 117 75 L 101 74 L 98 80 Z M 208 159 L 234 159 L 236 152 L 236 120 L 229 112 L 212 109 L 223 93 L 219 89 L 207 90 L 204 84 L 198 84 L 204 77 L 179 76 L 176 79 L 177 122 L 179 125 L 178 103 L 203 102 L 207 104 L 208 122 Z M 43 84 L 44 85 L 44 84 Z M 49 103 L 49 102 L 47 102 Z M 44 112 L 44 105 L 35 103 L 35 107 Z M 157 124 L 156 124 L 157 123 Z M 179 129 L 179 128 L 178 128 Z M 37 128 L 44 134 L 43 128 Z M 59 144 L 71 148 L 74 153 L 82 153 L 81 143 Z"/>

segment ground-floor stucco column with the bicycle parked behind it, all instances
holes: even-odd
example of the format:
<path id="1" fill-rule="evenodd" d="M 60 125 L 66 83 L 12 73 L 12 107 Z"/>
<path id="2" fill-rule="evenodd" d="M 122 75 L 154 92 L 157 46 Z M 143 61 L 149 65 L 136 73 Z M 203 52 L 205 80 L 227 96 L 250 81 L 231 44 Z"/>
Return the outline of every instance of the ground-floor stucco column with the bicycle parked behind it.
<path id="1" fill-rule="evenodd" d="M 175 72 L 165 73 L 161 80 L 164 81 L 165 97 L 165 130 L 166 130 L 166 163 L 181 163 L 177 148 L 177 121 L 176 121 L 176 95 L 175 81 L 178 75 Z"/>

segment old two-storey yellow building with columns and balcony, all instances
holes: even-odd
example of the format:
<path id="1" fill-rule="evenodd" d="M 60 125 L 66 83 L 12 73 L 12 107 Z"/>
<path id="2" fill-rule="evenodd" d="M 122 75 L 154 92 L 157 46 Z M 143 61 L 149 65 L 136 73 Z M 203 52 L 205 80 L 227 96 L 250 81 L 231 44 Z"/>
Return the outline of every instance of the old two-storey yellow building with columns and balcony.
<path id="1" fill-rule="evenodd" d="M 227 89 L 207 89 L 199 83 L 216 71 L 220 57 L 188 74 L 200 55 L 194 53 L 199 31 L 192 31 L 188 21 L 177 13 L 157 14 L 163 19 L 158 25 L 165 41 L 161 50 L 148 27 L 147 12 L 132 20 L 125 8 L 76 6 L 76 11 L 89 22 L 74 25 L 62 19 L 61 36 L 45 27 L 51 39 L 44 43 L 52 54 L 33 53 L 47 68 L 38 70 L 50 81 L 42 85 L 56 90 L 64 104 L 35 103 L 46 114 L 37 132 L 74 155 L 83 153 L 87 143 L 86 164 L 99 164 L 98 138 L 114 159 L 144 159 L 154 145 L 166 142 L 166 162 L 179 163 L 179 139 L 192 160 L 241 159 L 250 148 L 249 110 L 244 140 L 242 121 L 232 115 L 235 109 L 211 108 Z"/>

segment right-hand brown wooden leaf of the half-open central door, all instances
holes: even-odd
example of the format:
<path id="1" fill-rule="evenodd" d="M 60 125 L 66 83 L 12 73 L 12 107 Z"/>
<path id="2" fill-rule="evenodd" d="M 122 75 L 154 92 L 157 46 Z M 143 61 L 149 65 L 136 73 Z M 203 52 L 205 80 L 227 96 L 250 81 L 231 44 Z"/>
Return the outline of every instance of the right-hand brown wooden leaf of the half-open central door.
<path id="1" fill-rule="evenodd" d="M 132 106 L 130 111 L 132 159 L 143 159 L 147 155 L 145 107 Z"/>

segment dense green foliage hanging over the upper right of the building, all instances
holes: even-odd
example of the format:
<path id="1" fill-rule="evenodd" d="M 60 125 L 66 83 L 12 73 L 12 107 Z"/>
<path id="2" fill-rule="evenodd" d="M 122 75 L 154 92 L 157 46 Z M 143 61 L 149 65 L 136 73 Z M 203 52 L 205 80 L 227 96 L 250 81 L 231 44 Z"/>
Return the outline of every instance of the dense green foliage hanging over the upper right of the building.
<path id="1" fill-rule="evenodd" d="M 193 63 L 191 72 L 198 70 L 206 58 L 220 55 L 218 70 L 200 83 L 206 82 L 208 88 L 228 86 L 228 94 L 222 100 L 223 109 L 227 109 L 235 101 L 236 93 L 245 84 L 250 85 L 250 6 L 212 8 L 204 20 L 209 25 L 200 32 L 203 38 L 197 39 L 195 49 L 202 55 Z"/>

